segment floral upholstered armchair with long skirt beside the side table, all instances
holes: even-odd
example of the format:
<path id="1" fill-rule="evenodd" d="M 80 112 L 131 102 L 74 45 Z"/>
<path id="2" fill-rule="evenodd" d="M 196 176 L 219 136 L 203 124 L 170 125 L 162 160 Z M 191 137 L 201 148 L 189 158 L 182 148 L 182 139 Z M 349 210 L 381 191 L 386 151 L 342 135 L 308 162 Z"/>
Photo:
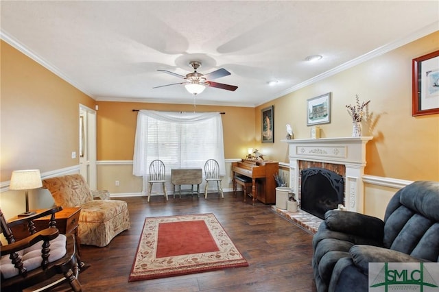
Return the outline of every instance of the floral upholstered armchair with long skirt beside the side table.
<path id="1" fill-rule="evenodd" d="M 43 180 L 43 188 L 49 190 L 57 206 L 82 207 L 78 226 L 81 244 L 103 247 L 117 234 L 130 228 L 127 203 L 93 199 L 88 184 L 80 174 L 47 178 Z"/>

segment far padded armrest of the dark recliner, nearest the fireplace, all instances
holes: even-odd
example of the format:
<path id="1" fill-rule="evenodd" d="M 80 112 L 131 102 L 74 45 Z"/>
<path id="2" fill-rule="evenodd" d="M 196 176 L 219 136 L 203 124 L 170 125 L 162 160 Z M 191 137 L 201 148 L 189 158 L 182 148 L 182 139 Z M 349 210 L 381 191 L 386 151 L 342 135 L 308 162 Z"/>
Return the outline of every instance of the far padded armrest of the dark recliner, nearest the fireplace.
<path id="1" fill-rule="evenodd" d="M 383 242 L 384 222 L 379 218 L 357 212 L 329 210 L 324 215 L 324 221 L 333 231 Z"/>

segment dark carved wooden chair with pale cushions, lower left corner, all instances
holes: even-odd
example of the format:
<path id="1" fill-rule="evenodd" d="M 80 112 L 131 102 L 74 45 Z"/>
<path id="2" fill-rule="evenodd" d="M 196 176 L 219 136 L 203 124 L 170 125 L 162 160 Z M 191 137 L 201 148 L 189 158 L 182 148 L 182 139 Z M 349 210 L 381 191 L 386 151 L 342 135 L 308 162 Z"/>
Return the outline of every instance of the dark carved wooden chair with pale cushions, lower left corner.
<path id="1" fill-rule="evenodd" d="M 52 289 L 67 280 L 73 291 L 82 291 L 78 280 L 80 269 L 85 267 L 75 250 L 75 236 L 59 234 L 55 213 L 62 207 L 52 208 L 29 217 L 7 222 L 0 209 L 1 232 L 8 245 L 1 245 L 1 291 L 21 291 L 54 279 L 39 291 Z M 51 215 L 48 228 L 36 232 L 34 219 Z M 11 228 L 27 224 L 29 236 L 16 241 Z M 56 278 L 62 274 L 64 278 Z M 64 279 L 64 280 L 63 280 Z"/>

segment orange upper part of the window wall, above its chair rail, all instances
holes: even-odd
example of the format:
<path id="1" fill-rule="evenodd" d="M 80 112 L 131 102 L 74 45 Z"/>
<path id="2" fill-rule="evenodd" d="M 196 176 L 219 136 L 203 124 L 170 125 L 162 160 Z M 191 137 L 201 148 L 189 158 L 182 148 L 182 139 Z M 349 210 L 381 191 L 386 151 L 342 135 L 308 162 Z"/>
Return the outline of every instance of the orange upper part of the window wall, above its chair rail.
<path id="1" fill-rule="evenodd" d="M 189 104 L 98 101 L 97 105 L 97 160 L 132 160 L 137 123 L 137 112 L 133 109 L 193 111 Z M 196 106 L 196 111 L 226 113 L 222 115 L 226 158 L 244 157 L 248 147 L 253 147 L 254 108 Z"/>

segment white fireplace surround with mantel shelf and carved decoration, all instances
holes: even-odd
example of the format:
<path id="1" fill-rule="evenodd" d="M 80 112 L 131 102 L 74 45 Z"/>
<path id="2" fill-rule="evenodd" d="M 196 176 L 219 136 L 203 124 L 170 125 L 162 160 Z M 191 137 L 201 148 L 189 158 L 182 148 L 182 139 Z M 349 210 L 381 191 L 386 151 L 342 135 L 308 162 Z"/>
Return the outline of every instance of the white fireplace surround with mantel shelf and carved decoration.
<path id="1" fill-rule="evenodd" d="M 298 161 L 316 161 L 345 165 L 345 204 L 347 210 L 364 213 L 363 175 L 366 167 L 366 143 L 371 136 L 281 140 L 289 145 L 289 186 L 299 189 Z M 296 193 L 297 194 L 297 193 Z"/>

